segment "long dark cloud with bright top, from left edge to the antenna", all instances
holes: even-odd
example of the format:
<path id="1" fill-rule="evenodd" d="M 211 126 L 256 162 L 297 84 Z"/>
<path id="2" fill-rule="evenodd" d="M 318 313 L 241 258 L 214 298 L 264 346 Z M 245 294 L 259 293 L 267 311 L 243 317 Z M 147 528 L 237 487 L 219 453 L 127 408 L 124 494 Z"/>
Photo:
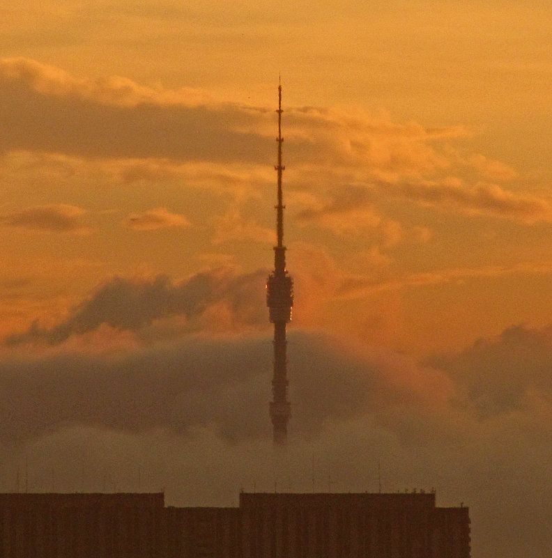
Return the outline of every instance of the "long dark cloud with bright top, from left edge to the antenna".
<path id="1" fill-rule="evenodd" d="M 15 66 L 15 68 L 14 68 Z M 123 89 L 123 97 L 128 90 Z M 159 95 L 118 102 L 111 82 L 84 94 L 56 68 L 18 60 L 0 66 L 1 150 L 94 157 L 259 161 L 268 138 L 252 131 L 263 112 L 233 104 L 167 104 Z M 130 94 L 130 93 L 129 93 Z M 29 111 L 29 107 L 33 107 Z M 247 127 L 247 131 L 240 131 Z M 238 130 L 240 128 L 240 130 Z M 272 146 L 272 144 L 270 144 Z"/>

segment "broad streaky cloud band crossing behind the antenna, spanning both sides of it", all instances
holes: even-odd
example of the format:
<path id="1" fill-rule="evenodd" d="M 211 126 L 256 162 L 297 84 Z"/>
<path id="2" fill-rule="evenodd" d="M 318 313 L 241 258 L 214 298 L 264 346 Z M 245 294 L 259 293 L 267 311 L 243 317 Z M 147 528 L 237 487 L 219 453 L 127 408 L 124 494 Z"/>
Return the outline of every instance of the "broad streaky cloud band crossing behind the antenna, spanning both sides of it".
<path id="1" fill-rule="evenodd" d="M 8 168 L 12 180 L 206 187 L 231 193 L 237 203 L 218 221 L 208 216 L 215 242 L 240 235 L 268 239 L 268 231 L 242 212 L 247 199 L 262 196 L 273 182 L 271 108 L 215 102 L 208 95 L 198 101 L 187 91 L 123 78 L 77 78 L 29 59 L 4 59 L 0 116 L 5 158 L 16 166 L 21 161 L 10 154 L 28 159 L 25 175 Z M 286 107 L 284 159 L 293 169 L 286 196 L 296 203 L 297 222 L 339 235 L 377 229 L 381 247 L 391 247 L 413 238 L 416 226 L 386 217 L 385 204 L 397 200 L 522 224 L 551 221 L 546 196 L 488 182 L 514 180 L 507 165 L 449 145 L 466 134 L 461 126 L 397 124 L 353 109 Z M 168 215 L 135 217 L 140 219 L 128 222 L 133 228 L 176 224 Z"/>

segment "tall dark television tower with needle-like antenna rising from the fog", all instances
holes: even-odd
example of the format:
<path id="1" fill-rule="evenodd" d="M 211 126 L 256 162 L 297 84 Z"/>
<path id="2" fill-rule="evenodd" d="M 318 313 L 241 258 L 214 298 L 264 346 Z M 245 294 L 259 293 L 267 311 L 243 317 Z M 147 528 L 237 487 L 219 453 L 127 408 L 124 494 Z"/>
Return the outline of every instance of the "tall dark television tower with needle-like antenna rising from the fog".
<path id="1" fill-rule="evenodd" d="M 291 320 L 293 307 L 293 280 L 286 271 L 286 247 L 284 246 L 284 208 L 282 204 L 282 85 L 278 86 L 278 197 L 276 209 L 277 245 L 274 247 L 274 271 L 266 284 L 266 305 L 270 322 L 274 324 L 274 374 L 273 401 L 270 401 L 270 419 L 273 423 L 274 443 L 283 444 L 287 438 L 287 425 L 291 417 L 287 398 L 286 324 Z"/>

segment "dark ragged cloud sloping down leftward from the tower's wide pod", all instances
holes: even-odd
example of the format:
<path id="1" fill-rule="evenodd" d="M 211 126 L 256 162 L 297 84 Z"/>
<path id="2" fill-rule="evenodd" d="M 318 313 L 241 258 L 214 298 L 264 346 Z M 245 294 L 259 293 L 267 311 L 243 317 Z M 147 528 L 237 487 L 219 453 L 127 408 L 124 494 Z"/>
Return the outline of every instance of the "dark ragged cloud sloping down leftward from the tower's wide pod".
<path id="1" fill-rule="evenodd" d="M 166 276 L 137 280 L 115 277 L 73 309 L 59 325 L 45 329 L 34 323 L 28 331 L 9 336 L 6 343 L 56 344 L 74 334 L 97 330 L 103 324 L 117 330 L 137 331 L 171 316 L 190 320 L 187 325 L 190 330 L 209 329 L 205 321 L 209 319 L 220 327 L 220 316 L 210 313 L 213 307 L 219 313 L 223 309 L 229 313 L 228 327 L 257 329 L 266 325 L 263 285 L 267 275 L 266 270 L 237 274 L 231 268 L 220 268 L 195 274 L 179 284 Z"/>

